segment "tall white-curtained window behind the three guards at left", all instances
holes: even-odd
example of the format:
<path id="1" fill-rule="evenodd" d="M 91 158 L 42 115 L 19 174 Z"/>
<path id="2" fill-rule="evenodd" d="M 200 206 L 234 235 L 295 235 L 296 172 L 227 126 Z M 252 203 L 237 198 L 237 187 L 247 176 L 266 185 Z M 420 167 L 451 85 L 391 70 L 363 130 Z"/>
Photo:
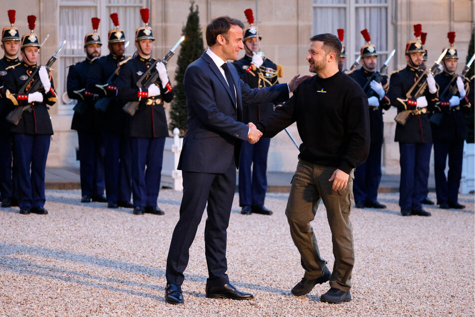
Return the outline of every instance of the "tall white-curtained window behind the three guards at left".
<path id="1" fill-rule="evenodd" d="M 124 30 L 126 41 L 130 44 L 125 49 L 126 55 L 135 51 L 135 29 L 142 25 L 140 9 L 146 7 L 148 0 L 60 0 L 58 39 L 67 42 L 59 54 L 57 91 L 61 93 L 58 114 L 72 114 L 74 100 L 66 95 L 66 78 L 68 65 L 85 58 L 84 35 L 92 32 L 91 18 L 100 18 L 99 33 L 102 42 L 101 56 L 107 55 L 107 32 L 114 28 L 109 14 L 117 12 L 120 28 Z"/>

